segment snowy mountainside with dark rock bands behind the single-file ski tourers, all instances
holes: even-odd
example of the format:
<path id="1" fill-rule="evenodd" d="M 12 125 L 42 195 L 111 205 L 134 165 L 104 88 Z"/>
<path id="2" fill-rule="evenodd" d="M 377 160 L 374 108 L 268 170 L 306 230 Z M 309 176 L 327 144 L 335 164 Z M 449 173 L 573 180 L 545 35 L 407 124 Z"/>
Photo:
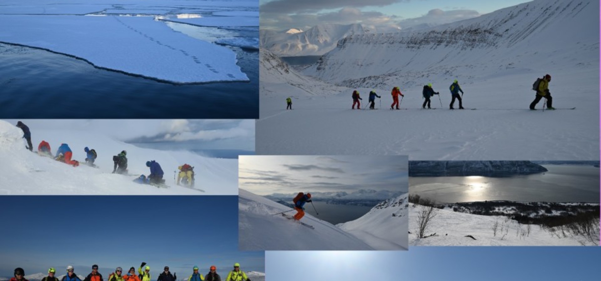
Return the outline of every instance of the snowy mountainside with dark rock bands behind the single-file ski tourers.
<path id="1" fill-rule="evenodd" d="M 351 35 L 307 73 L 355 87 L 392 87 L 385 77 L 373 76 L 400 72 L 397 83 L 407 88 L 422 86 L 424 78 L 485 80 L 501 70 L 537 77 L 595 69 L 598 10 L 594 0 L 535 0 L 416 32 Z"/>

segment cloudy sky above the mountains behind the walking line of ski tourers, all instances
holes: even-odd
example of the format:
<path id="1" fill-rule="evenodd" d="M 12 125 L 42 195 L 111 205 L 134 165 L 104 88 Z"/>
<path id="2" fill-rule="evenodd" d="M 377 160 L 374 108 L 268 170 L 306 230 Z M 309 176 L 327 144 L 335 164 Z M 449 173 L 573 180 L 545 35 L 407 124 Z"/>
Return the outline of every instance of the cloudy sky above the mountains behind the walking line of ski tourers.
<path id="1" fill-rule="evenodd" d="M 259 0 L 261 28 L 308 29 L 323 23 L 362 23 L 389 31 L 421 23 L 450 23 L 487 14 L 525 0 Z"/>

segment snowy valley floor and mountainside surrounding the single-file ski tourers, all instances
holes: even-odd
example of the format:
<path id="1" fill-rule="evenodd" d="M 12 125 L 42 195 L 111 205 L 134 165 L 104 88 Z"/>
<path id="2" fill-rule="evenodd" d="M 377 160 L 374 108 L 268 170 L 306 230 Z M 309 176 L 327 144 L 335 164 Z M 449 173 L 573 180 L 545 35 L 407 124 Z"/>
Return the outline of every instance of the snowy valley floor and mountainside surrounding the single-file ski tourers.
<path id="1" fill-rule="evenodd" d="M 535 0 L 415 33 L 347 37 L 303 71 L 332 86 L 322 83 L 312 95 L 298 96 L 294 110 L 285 110 L 284 98 L 301 78 L 272 87 L 263 79 L 276 80 L 267 76 L 277 73 L 261 73 L 256 152 L 597 160 L 598 10 L 593 0 Z M 532 83 L 546 73 L 554 107 L 575 110 L 543 112 L 543 101 L 537 111 L 528 110 Z M 447 109 L 455 78 L 465 92 L 463 106 L 477 110 Z M 438 110 L 419 109 L 427 83 L 440 92 L 432 98 Z M 393 86 L 405 95 L 400 107 L 409 110 L 388 110 Z M 380 110 L 350 110 L 355 89 L 362 108 L 376 90 Z"/>

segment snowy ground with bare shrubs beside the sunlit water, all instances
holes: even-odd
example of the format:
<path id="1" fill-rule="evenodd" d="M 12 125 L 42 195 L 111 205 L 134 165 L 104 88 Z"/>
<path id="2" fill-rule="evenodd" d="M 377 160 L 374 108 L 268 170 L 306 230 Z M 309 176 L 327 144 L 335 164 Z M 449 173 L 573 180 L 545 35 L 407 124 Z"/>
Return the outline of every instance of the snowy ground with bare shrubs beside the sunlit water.
<path id="1" fill-rule="evenodd" d="M 545 229 L 538 225 L 520 224 L 503 216 L 479 216 L 436 209 L 425 235 L 418 238 L 417 216 L 421 205 L 409 204 L 409 244 L 411 246 L 579 246 L 591 245 L 581 236 L 572 236 L 560 229 Z M 493 226 L 496 225 L 496 235 Z M 598 226 L 598 225 L 597 225 Z M 597 229 L 597 243 L 599 243 Z M 467 237 L 471 235 L 474 238 Z"/>

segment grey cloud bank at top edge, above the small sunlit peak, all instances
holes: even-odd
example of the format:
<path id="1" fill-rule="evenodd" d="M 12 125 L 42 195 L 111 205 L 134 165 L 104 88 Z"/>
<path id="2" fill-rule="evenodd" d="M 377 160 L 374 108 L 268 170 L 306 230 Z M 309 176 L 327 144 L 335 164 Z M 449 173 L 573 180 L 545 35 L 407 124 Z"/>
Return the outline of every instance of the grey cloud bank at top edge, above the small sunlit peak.
<path id="1" fill-rule="evenodd" d="M 342 7 L 386 6 L 408 0 L 277 0 L 259 6 L 261 13 L 316 13 Z"/>

